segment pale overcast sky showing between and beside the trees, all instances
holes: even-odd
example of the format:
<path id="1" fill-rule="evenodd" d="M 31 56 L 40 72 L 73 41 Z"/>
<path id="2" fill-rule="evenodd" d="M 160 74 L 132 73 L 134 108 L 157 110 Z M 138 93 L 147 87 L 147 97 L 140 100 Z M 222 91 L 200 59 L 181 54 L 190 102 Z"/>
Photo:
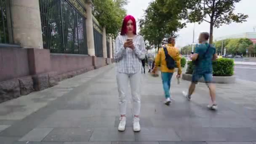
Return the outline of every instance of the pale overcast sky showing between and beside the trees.
<path id="1" fill-rule="evenodd" d="M 126 6 L 127 13 L 133 15 L 136 19 L 139 19 L 143 16 L 144 11 L 151 0 L 129 0 L 128 5 Z M 236 13 L 245 13 L 249 16 L 247 22 L 243 24 L 232 23 L 229 25 L 224 25 L 219 29 L 213 30 L 213 39 L 214 37 L 221 37 L 225 35 L 240 34 L 243 32 L 253 32 L 253 27 L 256 26 L 256 13 L 254 11 L 256 5 L 256 0 L 241 0 L 240 3 L 237 3 L 235 12 Z M 187 24 L 187 27 L 181 29 L 178 34 L 179 37 L 176 40 L 176 46 L 182 47 L 189 43 L 192 43 L 193 37 L 193 26 L 194 24 Z M 207 22 L 203 22 L 198 25 L 195 24 L 195 40 L 201 31 L 209 32 L 210 25 Z"/>

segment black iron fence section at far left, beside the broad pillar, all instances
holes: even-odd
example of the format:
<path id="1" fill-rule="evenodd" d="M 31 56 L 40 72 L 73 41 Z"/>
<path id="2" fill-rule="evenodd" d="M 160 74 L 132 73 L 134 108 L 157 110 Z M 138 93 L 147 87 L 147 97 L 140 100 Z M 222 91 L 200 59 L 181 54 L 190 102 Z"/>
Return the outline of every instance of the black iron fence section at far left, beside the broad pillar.
<path id="1" fill-rule="evenodd" d="M 13 43 L 9 0 L 0 0 L 0 44 Z"/>

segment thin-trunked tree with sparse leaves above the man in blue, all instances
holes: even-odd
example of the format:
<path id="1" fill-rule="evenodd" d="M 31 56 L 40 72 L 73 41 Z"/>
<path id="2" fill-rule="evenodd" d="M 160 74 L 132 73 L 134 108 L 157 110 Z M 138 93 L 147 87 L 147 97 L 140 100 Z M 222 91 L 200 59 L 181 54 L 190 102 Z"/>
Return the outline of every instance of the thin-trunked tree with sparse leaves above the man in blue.
<path id="1" fill-rule="evenodd" d="M 210 43 L 213 43 L 213 27 L 232 22 L 243 23 L 248 15 L 234 13 L 235 3 L 241 0 L 187 0 L 189 22 L 206 21 L 210 24 Z M 209 20 L 207 19 L 209 17 Z"/>

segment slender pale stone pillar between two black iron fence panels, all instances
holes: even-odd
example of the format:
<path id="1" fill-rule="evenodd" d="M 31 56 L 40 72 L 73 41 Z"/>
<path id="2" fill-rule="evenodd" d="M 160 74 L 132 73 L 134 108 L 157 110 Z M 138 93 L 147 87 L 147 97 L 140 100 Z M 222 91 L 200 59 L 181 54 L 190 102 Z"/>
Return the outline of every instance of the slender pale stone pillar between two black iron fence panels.
<path id="1" fill-rule="evenodd" d="M 92 14 L 92 1 L 85 0 L 86 8 L 86 36 L 87 36 L 87 46 L 88 46 L 88 55 L 95 56 L 94 49 L 94 37 L 93 37 L 93 14 Z"/>

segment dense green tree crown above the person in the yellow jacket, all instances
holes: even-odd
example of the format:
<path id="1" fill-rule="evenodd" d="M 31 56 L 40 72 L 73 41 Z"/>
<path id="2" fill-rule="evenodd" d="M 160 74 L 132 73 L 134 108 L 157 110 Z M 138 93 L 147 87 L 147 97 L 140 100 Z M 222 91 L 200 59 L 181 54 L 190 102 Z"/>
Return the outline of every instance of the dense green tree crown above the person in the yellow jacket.
<path id="1" fill-rule="evenodd" d="M 177 37 L 176 32 L 185 27 L 181 22 L 186 8 L 183 0 L 154 0 L 139 20 L 140 34 L 150 45 L 160 45 L 164 38 Z"/>

